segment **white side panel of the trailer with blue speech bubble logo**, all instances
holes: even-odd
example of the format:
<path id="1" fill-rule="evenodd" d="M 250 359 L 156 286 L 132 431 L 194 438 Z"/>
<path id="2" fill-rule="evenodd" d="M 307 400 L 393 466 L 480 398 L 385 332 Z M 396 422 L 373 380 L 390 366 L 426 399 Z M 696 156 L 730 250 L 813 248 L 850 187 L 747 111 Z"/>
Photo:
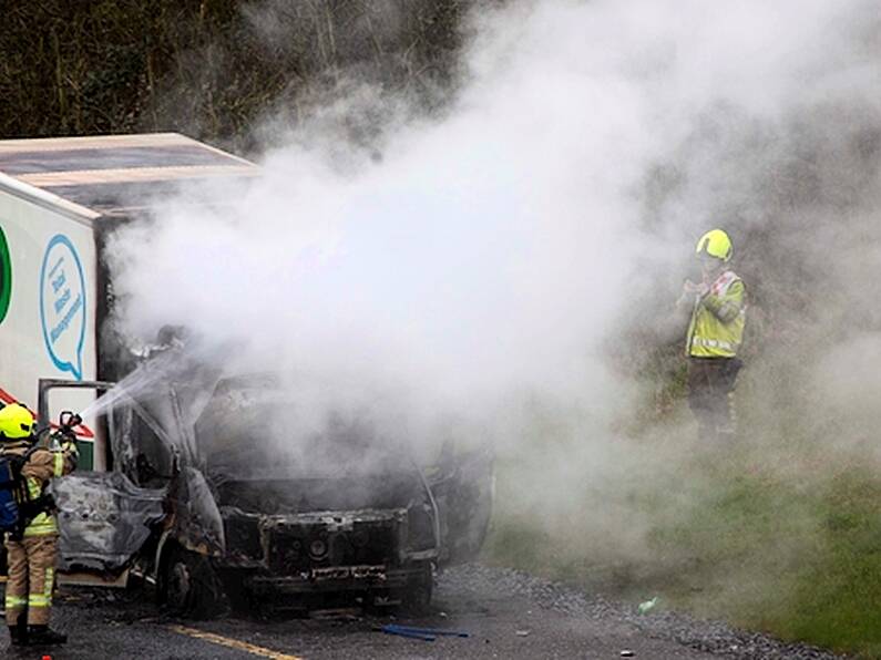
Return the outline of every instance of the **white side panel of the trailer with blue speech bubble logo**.
<path id="1" fill-rule="evenodd" d="M 34 411 L 38 379 L 96 377 L 92 219 L 40 193 L 0 181 L 0 400 Z M 82 410 L 92 399 L 59 392 L 53 408 Z M 81 430 L 81 441 L 93 439 Z"/>

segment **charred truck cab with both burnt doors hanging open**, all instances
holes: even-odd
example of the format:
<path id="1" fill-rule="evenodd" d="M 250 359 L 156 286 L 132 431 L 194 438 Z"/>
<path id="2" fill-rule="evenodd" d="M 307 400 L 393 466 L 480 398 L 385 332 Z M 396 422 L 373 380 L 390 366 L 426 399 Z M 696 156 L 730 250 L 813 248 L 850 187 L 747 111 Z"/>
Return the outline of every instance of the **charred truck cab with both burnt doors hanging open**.
<path id="1" fill-rule="evenodd" d="M 331 417 L 294 442 L 273 377 L 219 378 L 174 350 L 135 375 L 136 394 L 123 388 L 106 414 L 114 470 L 55 487 L 63 570 L 130 571 L 196 617 L 237 605 L 418 610 L 438 567 L 480 549 L 489 453 L 448 453 L 429 478 L 367 423 Z M 41 400 L 65 384 L 43 381 Z M 90 384 L 110 386 L 75 386 Z"/>

